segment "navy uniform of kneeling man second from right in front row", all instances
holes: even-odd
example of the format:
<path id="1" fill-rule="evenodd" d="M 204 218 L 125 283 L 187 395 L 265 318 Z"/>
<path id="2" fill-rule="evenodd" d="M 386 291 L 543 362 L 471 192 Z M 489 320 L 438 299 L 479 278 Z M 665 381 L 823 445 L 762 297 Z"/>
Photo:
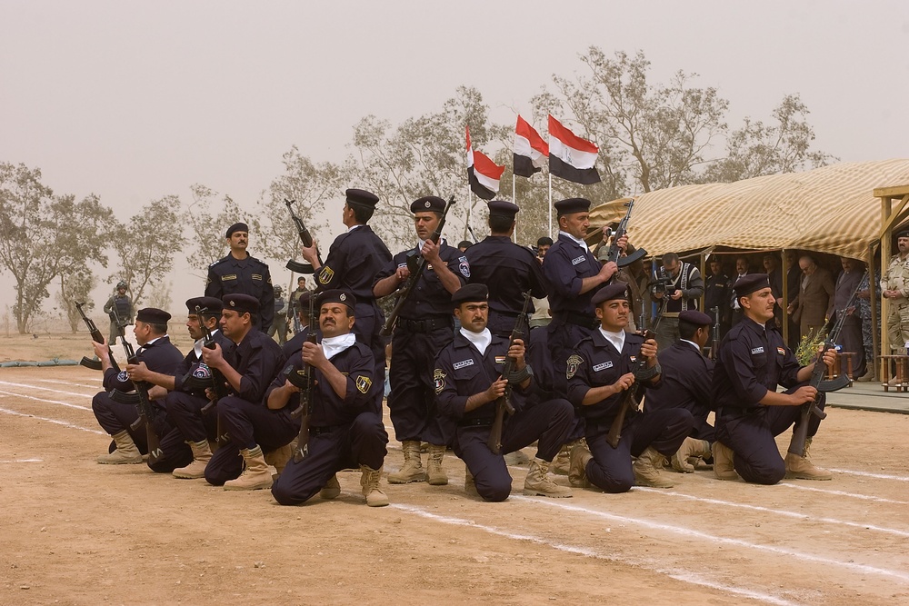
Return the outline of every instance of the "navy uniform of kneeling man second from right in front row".
<path id="1" fill-rule="evenodd" d="M 548 254 L 546 255 L 548 256 Z M 568 397 L 577 407 L 575 412 L 584 416 L 584 433 L 587 447 L 594 458 L 587 462 L 587 479 L 605 492 L 627 492 L 634 486 L 631 458 L 651 446 L 666 456 L 672 456 L 691 431 L 691 412 L 674 408 L 657 411 L 633 412 L 629 409 L 622 425 L 622 439 L 617 448 L 606 442 L 606 435 L 615 415 L 621 410 L 624 392 L 614 393 L 600 402 L 584 406 L 582 401 L 593 387 L 610 385 L 623 374 L 631 373 L 641 351 L 644 338 L 626 333 L 622 352 L 606 341 L 603 333 L 594 331 L 578 343 L 577 350 L 568 358 Z M 646 397 L 661 388 L 644 382 Z"/>

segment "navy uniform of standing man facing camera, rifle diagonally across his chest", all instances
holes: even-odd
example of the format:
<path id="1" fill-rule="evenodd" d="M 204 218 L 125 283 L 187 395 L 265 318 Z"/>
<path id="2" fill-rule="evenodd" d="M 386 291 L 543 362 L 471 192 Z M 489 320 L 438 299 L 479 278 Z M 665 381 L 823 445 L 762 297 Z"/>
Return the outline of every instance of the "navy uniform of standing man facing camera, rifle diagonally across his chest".
<path id="1" fill-rule="evenodd" d="M 375 282 L 394 274 L 417 248 L 395 254 Z M 470 265 L 458 249 L 442 243 L 439 256 L 461 285 L 470 277 Z M 451 293 L 438 275 L 426 267 L 411 291 L 392 334 L 392 363 L 388 381 L 388 412 L 400 442 L 422 441 L 444 445 L 451 438 L 452 424 L 435 410 L 433 369 L 435 354 L 453 338 L 454 316 Z"/>

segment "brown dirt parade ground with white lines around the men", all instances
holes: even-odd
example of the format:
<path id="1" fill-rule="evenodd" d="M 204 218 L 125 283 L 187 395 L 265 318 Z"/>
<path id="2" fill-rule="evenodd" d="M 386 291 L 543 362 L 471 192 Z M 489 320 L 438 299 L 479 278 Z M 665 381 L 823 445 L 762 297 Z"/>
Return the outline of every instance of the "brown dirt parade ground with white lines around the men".
<path id="1" fill-rule="evenodd" d="M 84 334 L 0 349 L 88 351 Z M 670 490 L 554 500 L 521 494 L 521 465 L 512 496 L 484 503 L 449 456 L 448 486 L 383 480 L 390 507 L 366 507 L 355 472 L 335 502 L 280 507 L 96 464 L 99 386 L 78 366 L 0 369 L 0 604 L 909 603 L 906 415 L 832 410 L 813 447 L 832 482 L 695 472 Z M 401 461 L 393 441 L 385 472 Z"/>

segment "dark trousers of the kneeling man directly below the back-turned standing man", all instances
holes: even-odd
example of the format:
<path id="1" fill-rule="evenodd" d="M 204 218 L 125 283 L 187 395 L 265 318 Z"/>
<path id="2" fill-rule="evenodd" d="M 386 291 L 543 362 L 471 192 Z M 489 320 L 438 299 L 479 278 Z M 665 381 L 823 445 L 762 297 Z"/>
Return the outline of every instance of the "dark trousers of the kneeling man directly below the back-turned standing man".
<path id="1" fill-rule="evenodd" d="M 511 493 L 512 482 L 504 455 L 539 440 L 536 456 L 551 462 L 562 448 L 573 421 L 574 408 L 567 400 L 541 402 L 505 421 L 501 454 L 494 454 L 486 445 L 489 425 L 457 427 L 452 450 L 473 474 L 476 492 L 485 501 L 504 501 Z"/>

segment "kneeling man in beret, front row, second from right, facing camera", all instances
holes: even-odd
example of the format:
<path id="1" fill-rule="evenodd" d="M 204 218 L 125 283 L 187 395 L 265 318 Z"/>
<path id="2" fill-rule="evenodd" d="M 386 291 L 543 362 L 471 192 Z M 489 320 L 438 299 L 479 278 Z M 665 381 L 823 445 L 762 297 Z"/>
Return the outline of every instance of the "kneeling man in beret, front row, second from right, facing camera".
<path id="1" fill-rule="evenodd" d="M 568 479 L 573 486 L 593 484 L 605 492 L 627 492 L 635 484 L 669 488 L 673 482 L 660 472 L 691 431 L 691 413 L 684 409 L 644 412 L 629 408 L 621 440 L 613 448 L 606 440 L 621 410 L 624 392 L 641 383 L 646 393 L 661 388 L 661 369 L 654 339 L 625 333 L 631 306 L 627 284 L 616 282 L 598 290 L 592 303 L 600 325 L 577 344 L 568 358 L 568 395 L 584 416 L 587 446 L 571 452 Z M 635 375 L 639 357 L 646 360 Z M 649 397 L 647 395 L 646 397 Z M 632 463 L 632 457 L 636 457 Z"/>

